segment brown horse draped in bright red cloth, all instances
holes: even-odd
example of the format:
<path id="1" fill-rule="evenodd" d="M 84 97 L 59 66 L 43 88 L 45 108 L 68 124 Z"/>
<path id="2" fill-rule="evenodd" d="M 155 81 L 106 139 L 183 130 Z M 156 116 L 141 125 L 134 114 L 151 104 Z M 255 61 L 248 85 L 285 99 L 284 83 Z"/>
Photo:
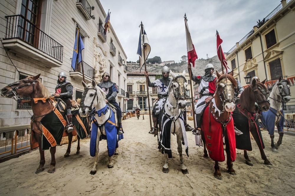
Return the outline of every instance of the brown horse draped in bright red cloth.
<path id="1" fill-rule="evenodd" d="M 221 180 L 218 162 L 225 160 L 222 138 L 225 138 L 225 151 L 227 154 L 227 168 L 231 175 L 236 175 L 232 167 L 235 161 L 235 131 L 231 112 L 235 110 L 235 89 L 237 82 L 232 77 L 233 72 L 220 75 L 216 72 L 218 80 L 213 99 L 204 109 L 201 123 L 201 137 L 204 143 L 204 157 L 209 156 L 215 161 L 214 177 Z M 207 147 L 207 149 L 206 149 Z"/>

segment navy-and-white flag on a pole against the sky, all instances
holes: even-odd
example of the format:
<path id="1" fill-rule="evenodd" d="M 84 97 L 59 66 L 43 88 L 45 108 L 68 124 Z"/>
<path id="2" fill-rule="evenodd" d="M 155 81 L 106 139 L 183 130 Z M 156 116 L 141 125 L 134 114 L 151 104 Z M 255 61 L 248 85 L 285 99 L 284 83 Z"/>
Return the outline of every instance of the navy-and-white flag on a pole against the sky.
<path id="1" fill-rule="evenodd" d="M 140 33 L 139 33 L 139 41 L 138 41 L 138 48 L 137 48 L 137 54 L 139 56 L 139 68 L 140 72 L 142 69 L 143 64 L 148 59 L 148 55 L 150 54 L 150 43 L 148 41 L 148 36 L 145 33 L 144 26 L 141 23 Z M 143 34 L 141 33 L 143 30 Z M 145 59 L 144 59 L 145 55 Z"/>

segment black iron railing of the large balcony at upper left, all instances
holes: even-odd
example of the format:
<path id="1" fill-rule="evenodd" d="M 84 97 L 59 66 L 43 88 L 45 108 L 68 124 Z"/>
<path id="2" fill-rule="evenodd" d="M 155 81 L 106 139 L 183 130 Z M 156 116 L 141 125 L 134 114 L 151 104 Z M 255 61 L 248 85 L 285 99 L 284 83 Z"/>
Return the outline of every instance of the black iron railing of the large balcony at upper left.
<path id="1" fill-rule="evenodd" d="M 21 15 L 5 16 L 5 39 L 19 39 L 63 62 L 63 46 Z"/>

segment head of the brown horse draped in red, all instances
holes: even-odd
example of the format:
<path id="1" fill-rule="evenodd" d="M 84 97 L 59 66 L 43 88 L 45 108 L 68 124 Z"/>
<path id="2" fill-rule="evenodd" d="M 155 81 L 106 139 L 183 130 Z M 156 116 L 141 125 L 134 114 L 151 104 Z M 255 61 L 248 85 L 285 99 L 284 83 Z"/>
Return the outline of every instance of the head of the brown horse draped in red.
<path id="1" fill-rule="evenodd" d="M 216 84 L 216 95 L 222 102 L 223 109 L 227 112 L 235 110 L 235 89 L 237 89 L 237 82 L 233 78 L 233 71 L 228 74 L 220 75 L 216 71 L 218 78 Z"/>

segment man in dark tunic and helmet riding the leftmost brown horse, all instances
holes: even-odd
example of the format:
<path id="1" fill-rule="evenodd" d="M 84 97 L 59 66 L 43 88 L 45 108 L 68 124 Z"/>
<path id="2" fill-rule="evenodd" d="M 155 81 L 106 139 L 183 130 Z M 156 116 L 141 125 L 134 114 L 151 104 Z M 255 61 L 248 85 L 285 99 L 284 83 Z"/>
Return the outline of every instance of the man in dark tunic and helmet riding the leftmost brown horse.
<path id="1" fill-rule="evenodd" d="M 68 117 L 68 133 L 71 133 L 74 128 L 72 125 L 72 114 L 71 114 L 71 99 L 73 99 L 73 85 L 66 81 L 67 75 L 64 71 L 58 74 L 58 85 L 55 87 L 55 93 L 53 94 L 54 98 L 60 98 L 66 104 L 66 115 Z"/>

